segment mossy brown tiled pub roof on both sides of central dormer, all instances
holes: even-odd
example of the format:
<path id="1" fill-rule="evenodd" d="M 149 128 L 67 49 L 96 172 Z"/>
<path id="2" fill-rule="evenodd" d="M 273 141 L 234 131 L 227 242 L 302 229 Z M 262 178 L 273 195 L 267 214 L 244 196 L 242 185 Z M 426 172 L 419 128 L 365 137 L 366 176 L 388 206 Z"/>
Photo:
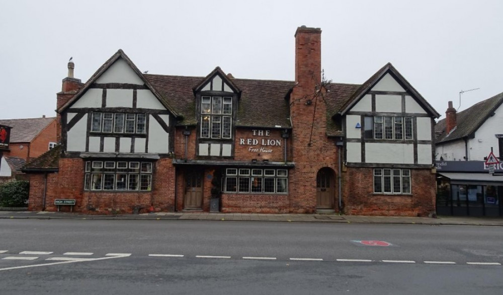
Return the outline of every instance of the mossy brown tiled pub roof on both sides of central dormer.
<path id="1" fill-rule="evenodd" d="M 167 104 L 183 120 L 181 125 L 195 125 L 196 103 L 193 88 L 205 77 L 143 75 Z M 294 82 L 272 80 L 231 79 L 241 90 L 238 101 L 237 126 L 291 127 L 290 109 L 285 99 Z"/>

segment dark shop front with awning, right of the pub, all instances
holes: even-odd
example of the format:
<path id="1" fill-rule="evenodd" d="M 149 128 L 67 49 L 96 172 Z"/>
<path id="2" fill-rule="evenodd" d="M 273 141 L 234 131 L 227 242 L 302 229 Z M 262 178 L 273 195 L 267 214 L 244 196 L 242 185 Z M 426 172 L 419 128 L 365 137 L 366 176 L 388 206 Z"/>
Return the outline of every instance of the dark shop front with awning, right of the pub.
<path id="1" fill-rule="evenodd" d="M 503 216 L 503 164 L 494 173 L 483 161 L 437 161 L 437 214 Z"/>

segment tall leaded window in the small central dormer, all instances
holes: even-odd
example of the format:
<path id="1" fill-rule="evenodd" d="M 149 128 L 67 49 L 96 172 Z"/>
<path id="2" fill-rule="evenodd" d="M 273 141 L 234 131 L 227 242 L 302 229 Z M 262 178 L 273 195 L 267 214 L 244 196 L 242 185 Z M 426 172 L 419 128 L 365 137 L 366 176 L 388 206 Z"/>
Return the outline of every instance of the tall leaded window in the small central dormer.
<path id="1" fill-rule="evenodd" d="M 231 138 L 232 97 L 201 97 L 201 137 Z"/>

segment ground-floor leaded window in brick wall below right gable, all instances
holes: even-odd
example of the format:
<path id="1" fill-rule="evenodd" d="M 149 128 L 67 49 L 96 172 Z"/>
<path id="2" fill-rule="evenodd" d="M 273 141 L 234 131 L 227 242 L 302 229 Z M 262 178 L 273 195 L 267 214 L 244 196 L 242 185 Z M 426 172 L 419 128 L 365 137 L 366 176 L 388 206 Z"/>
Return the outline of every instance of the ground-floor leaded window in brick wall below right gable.
<path id="1" fill-rule="evenodd" d="M 374 193 L 409 194 L 409 169 L 374 169 Z"/>

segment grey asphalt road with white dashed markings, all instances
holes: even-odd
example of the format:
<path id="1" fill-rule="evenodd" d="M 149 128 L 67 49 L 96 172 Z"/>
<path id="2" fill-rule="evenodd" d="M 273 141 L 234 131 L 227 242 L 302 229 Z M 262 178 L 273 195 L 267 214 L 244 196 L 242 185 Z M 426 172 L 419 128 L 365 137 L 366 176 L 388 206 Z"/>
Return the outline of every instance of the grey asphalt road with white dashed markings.
<path id="1" fill-rule="evenodd" d="M 496 294 L 501 264 L 499 227 L 0 220 L 2 294 Z"/>

